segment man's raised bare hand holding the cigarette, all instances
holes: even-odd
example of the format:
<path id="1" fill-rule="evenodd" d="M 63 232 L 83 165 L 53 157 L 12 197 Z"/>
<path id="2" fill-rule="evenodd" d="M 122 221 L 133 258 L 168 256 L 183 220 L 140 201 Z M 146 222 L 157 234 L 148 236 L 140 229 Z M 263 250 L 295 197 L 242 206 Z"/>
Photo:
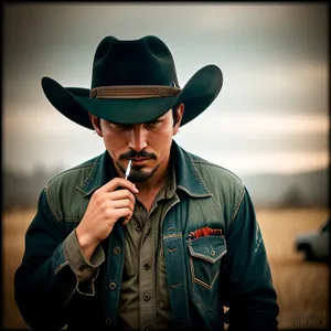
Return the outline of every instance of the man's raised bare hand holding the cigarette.
<path id="1" fill-rule="evenodd" d="M 124 217 L 122 224 L 130 221 L 135 209 L 134 193 L 138 192 L 130 181 L 115 178 L 93 193 L 76 228 L 78 243 L 87 260 L 90 260 L 97 245 L 111 233 L 119 218 Z"/>

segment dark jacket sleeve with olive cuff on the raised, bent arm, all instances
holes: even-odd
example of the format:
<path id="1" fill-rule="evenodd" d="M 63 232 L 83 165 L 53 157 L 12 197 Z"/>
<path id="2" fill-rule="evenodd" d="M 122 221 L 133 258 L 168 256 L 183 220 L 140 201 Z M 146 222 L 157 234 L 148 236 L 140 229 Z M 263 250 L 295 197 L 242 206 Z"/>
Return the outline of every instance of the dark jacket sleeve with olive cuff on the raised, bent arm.
<path id="1" fill-rule="evenodd" d="M 14 297 L 33 330 L 60 330 L 67 323 L 68 302 L 76 295 L 94 295 L 94 280 L 104 260 L 100 246 L 88 263 L 75 229 L 54 217 L 42 191 L 38 212 L 25 234 L 25 252 L 14 275 Z"/>

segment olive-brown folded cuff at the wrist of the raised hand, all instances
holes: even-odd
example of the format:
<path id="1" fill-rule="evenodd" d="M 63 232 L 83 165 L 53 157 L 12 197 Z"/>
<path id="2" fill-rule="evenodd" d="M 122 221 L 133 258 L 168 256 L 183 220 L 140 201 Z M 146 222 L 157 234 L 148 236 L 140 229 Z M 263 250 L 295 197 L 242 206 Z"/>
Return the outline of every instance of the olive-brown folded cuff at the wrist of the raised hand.
<path id="1" fill-rule="evenodd" d="M 98 245 L 90 258 L 90 263 L 85 258 L 74 229 L 64 241 L 64 249 L 72 270 L 76 274 L 79 284 L 94 281 L 97 277 L 97 269 L 105 260 L 105 254 Z M 93 277 L 94 275 L 94 277 Z"/>

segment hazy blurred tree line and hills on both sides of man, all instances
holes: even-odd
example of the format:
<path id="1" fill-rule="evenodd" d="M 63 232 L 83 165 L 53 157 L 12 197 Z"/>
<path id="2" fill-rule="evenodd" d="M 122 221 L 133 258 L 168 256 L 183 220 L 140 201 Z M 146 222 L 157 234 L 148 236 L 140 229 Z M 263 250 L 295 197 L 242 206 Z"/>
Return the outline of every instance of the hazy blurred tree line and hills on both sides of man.
<path id="1" fill-rule="evenodd" d="M 2 210 L 35 209 L 47 182 L 63 171 L 36 168 L 32 174 L 2 171 Z M 329 171 L 318 170 L 295 175 L 257 174 L 242 178 L 256 207 L 327 207 Z"/>

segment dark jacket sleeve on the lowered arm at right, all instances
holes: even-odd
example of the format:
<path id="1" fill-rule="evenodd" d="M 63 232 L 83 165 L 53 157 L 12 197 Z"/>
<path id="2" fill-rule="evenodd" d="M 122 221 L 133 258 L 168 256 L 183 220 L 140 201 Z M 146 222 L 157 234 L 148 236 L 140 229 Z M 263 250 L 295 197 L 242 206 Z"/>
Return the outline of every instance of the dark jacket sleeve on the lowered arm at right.
<path id="1" fill-rule="evenodd" d="M 263 236 L 247 190 L 227 233 L 221 286 L 228 330 L 277 330 L 279 307 Z"/>

